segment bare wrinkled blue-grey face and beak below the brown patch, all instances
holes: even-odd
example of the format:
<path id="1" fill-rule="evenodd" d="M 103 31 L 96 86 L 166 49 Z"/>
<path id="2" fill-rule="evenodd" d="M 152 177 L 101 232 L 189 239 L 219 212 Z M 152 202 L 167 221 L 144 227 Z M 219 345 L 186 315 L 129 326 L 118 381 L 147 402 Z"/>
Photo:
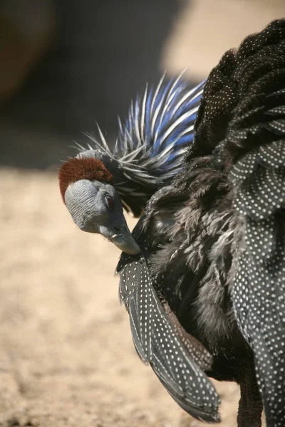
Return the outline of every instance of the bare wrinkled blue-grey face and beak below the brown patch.
<path id="1" fill-rule="evenodd" d="M 64 199 L 73 221 L 82 231 L 101 234 L 130 255 L 140 253 L 113 185 L 81 179 L 68 186 Z"/>

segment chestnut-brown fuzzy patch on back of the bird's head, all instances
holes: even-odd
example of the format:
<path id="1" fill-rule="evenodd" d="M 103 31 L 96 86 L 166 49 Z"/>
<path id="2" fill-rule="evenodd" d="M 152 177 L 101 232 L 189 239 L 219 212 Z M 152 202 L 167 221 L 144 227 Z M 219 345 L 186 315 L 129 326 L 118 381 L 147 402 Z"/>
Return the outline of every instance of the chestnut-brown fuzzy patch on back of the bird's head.
<path id="1" fill-rule="evenodd" d="M 58 171 L 59 189 L 64 201 L 64 194 L 69 184 L 79 181 L 80 179 L 96 179 L 97 181 L 113 182 L 113 175 L 110 174 L 104 164 L 92 157 L 86 159 L 68 159 Z"/>

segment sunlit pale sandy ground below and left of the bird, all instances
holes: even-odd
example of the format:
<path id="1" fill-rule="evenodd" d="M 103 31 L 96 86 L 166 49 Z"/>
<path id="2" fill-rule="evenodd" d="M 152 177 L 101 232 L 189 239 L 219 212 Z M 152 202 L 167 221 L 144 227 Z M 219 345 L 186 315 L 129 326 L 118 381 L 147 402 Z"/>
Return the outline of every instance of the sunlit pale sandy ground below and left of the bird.
<path id="1" fill-rule="evenodd" d="M 138 359 L 120 253 L 76 228 L 56 174 L 0 169 L 0 194 L 0 426 L 204 425 Z M 234 427 L 237 386 L 217 389 L 221 426 Z"/>

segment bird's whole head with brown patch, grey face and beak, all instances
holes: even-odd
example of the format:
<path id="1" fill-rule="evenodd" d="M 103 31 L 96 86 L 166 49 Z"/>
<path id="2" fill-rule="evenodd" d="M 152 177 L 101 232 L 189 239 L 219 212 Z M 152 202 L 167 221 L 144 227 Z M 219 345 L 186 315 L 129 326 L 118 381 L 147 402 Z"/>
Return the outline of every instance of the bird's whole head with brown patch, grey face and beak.
<path id="1" fill-rule="evenodd" d="M 82 231 L 102 234 L 123 252 L 140 253 L 125 221 L 113 176 L 101 160 L 68 159 L 58 176 L 63 202 Z"/>

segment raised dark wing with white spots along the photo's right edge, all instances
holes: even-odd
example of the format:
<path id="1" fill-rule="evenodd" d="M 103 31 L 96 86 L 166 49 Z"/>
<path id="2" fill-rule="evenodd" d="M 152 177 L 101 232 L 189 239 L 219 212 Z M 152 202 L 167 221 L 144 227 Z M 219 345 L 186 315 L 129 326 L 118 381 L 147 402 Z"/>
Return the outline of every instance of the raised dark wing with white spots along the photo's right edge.
<path id="1" fill-rule="evenodd" d="M 240 224 L 232 298 L 254 351 L 266 425 L 277 427 L 285 425 L 285 21 L 246 42 L 239 79 L 247 95 L 227 141 Z"/>

